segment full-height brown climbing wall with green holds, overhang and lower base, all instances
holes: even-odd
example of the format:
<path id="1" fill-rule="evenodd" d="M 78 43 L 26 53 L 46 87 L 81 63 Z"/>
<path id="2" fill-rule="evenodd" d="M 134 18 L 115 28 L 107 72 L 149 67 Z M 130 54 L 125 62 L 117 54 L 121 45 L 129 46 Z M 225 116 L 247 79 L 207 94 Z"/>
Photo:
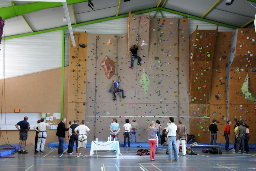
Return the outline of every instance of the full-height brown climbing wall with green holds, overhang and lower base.
<path id="1" fill-rule="evenodd" d="M 196 141 L 207 142 L 210 116 L 210 92 L 212 61 L 216 45 L 217 30 L 198 30 L 190 35 L 189 93 L 190 93 L 190 134 Z M 193 114 L 192 114 L 193 113 Z M 211 123 L 210 123 L 211 124 Z"/>

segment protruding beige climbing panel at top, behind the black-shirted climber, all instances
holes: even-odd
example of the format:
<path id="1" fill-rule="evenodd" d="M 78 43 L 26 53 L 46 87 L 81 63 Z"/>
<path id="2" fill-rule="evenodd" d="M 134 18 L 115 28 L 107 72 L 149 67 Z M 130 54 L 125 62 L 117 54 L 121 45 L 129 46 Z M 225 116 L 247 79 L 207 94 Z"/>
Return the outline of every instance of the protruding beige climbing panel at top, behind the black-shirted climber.
<path id="1" fill-rule="evenodd" d="M 148 42 L 149 42 L 149 15 L 133 15 L 129 16 L 128 20 L 128 35 L 129 35 L 129 47 L 132 47 L 135 43 L 141 46 L 138 56 L 148 57 Z M 128 48 L 128 47 L 127 47 Z M 130 53 L 130 57 L 132 54 Z M 135 63 L 136 64 L 136 63 Z"/>

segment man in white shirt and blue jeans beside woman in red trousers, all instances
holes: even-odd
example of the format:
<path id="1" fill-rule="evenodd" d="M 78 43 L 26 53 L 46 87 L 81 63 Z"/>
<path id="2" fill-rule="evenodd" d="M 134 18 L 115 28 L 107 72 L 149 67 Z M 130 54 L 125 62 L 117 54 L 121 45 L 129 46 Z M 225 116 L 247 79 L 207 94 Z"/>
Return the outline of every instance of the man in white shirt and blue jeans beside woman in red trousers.
<path id="1" fill-rule="evenodd" d="M 171 123 L 167 129 L 166 129 L 166 134 L 167 134 L 167 143 L 168 143 L 168 149 L 169 149 L 169 155 L 168 159 L 166 161 L 172 162 L 172 161 L 178 161 L 178 150 L 176 146 L 176 130 L 177 126 L 173 123 L 174 118 L 170 117 L 169 118 L 169 123 Z M 174 160 L 172 160 L 172 148 L 174 151 Z"/>

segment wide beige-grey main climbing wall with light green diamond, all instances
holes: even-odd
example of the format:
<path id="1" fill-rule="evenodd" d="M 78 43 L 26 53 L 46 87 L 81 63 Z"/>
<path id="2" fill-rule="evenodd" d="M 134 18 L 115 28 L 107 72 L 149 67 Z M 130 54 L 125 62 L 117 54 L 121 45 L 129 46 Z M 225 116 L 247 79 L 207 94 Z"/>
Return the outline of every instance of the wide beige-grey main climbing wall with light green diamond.
<path id="1" fill-rule="evenodd" d="M 131 120 L 134 115 L 139 125 L 139 142 L 148 140 L 150 121 L 160 120 L 164 128 L 168 126 L 170 116 L 175 122 L 183 120 L 189 132 L 188 23 L 181 23 L 180 19 L 166 19 L 164 24 L 162 19 L 152 19 L 150 23 L 150 41 L 145 45 L 149 55 L 141 55 L 142 65 L 134 65 L 133 69 L 129 68 L 131 57 L 128 56 L 127 35 L 88 34 L 86 122 L 92 135 L 101 140 L 106 140 L 109 135 L 111 118 L 118 119 L 123 130 L 125 119 Z M 111 45 L 107 45 L 109 39 Z M 144 47 L 140 46 L 138 54 Z M 100 66 L 106 55 L 115 62 L 115 74 L 110 79 Z M 111 85 L 118 75 L 121 77 L 119 86 L 126 97 L 122 98 L 118 93 L 117 101 L 113 101 Z M 182 98 L 179 98 L 179 92 Z M 123 140 L 121 131 L 119 141 Z"/>

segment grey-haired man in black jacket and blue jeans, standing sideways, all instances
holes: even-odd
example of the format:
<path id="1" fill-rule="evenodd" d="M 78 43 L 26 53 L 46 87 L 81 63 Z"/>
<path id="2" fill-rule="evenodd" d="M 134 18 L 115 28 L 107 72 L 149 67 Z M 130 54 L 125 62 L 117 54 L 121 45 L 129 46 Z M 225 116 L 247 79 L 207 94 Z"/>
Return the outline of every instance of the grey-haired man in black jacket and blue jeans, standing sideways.
<path id="1" fill-rule="evenodd" d="M 58 154 L 64 153 L 63 146 L 64 146 L 65 131 L 68 131 L 69 129 L 69 128 L 66 128 L 65 126 L 66 122 L 67 122 L 66 118 L 63 118 L 57 127 L 56 136 L 58 136 L 58 139 L 59 139 Z"/>

